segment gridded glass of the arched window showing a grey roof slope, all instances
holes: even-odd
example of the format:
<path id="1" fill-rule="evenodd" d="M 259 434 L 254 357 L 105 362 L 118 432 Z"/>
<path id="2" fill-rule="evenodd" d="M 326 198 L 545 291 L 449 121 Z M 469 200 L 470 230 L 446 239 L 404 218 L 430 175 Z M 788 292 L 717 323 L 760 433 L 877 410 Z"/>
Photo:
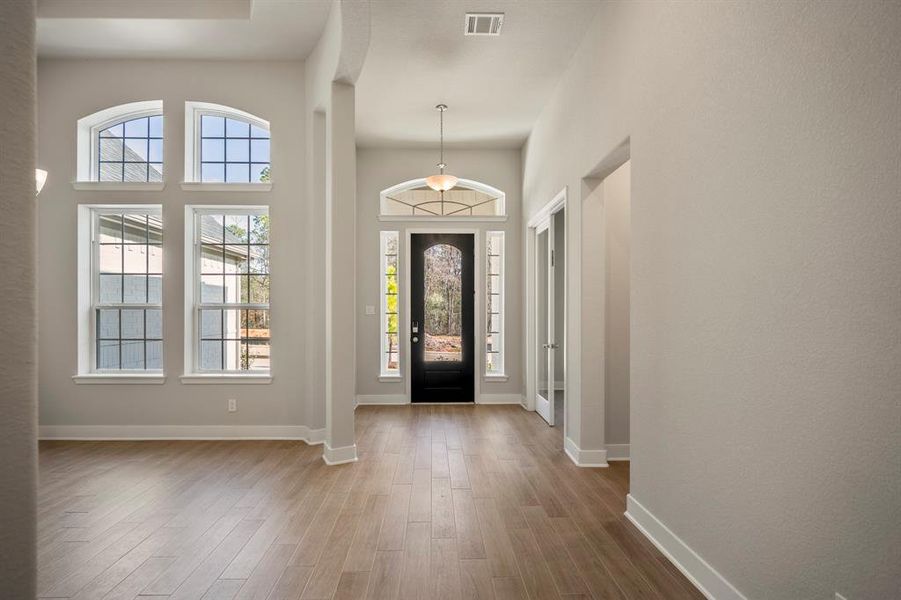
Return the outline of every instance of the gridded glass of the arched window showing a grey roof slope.
<path id="1" fill-rule="evenodd" d="M 163 180 L 163 116 L 122 120 L 96 131 L 98 181 Z"/>

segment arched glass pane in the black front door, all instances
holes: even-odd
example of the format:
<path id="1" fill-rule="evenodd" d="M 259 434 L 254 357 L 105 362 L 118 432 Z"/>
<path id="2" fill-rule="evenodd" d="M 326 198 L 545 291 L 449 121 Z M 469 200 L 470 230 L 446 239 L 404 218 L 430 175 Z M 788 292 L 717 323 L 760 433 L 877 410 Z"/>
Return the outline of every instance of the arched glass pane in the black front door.
<path id="1" fill-rule="evenodd" d="M 425 251 L 425 360 L 463 360 L 463 253 L 438 244 Z"/>

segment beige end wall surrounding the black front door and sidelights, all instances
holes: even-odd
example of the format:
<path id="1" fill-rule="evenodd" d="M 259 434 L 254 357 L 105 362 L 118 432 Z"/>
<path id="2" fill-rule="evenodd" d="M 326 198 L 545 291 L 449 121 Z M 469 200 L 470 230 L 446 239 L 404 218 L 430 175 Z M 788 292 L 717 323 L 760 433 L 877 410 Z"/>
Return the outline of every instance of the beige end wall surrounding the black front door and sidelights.
<path id="1" fill-rule="evenodd" d="M 429 175 L 435 170 L 437 150 L 398 150 L 384 148 L 357 149 L 357 394 L 397 395 L 405 393 L 404 382 L 380 382 L 379 375 L 379 317 L 364 314 L 366 305 L 379 307 L 380 263 L 379 231 L 401 232 L 404 240 L 408 228 L 433 227 L 435 223 L 388 222 L 378 220 L 379 194 L 382 190 Z M 506 193 L 508 218 L 503 223 L 443 223 L 448 230 L 478 229 L 482 248 L 478 260 L 484 260 L 486 231 L 505 231 L 506 264 L 506 367 L 508 380 L 483 381 L 482 394 L 520 394 L 522 387 L 521 355 L 521 248 L 520 223 L 520 154 L 516 150 L 449 150 L 445 160 L 448 172 L 464 179 L 472 179 L 494 186 Z M 484 272 L 484 269 L 482 270 Z M 403 281 L 403 280 L 401 280 Z M 477 290 L 483 289 L 479 287 Z M 403 291 L 401 292 L 403 294 Z M 403 304 L 401 305 L 403 306 Z M 480 302 L 480 310 L 484 303 Z M 408 319 L 401 316 L 401 339 L 409 337 Z M 484 323 L 484 318 L 481 321 Z M 477 343 L 478 347 L 478 343 Z M 481 356 L 479 357 L 481 358 Z"/>

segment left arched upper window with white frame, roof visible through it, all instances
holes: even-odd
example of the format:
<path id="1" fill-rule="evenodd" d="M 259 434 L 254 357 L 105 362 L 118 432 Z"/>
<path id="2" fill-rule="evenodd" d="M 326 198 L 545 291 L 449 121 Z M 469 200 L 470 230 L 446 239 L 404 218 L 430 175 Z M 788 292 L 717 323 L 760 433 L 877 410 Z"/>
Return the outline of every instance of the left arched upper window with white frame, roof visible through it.
<path id="1" fill-rule="evenodd" d="M 161 183 L 163 102 L 132 102 L 78 120 L 79 182 Z"/>

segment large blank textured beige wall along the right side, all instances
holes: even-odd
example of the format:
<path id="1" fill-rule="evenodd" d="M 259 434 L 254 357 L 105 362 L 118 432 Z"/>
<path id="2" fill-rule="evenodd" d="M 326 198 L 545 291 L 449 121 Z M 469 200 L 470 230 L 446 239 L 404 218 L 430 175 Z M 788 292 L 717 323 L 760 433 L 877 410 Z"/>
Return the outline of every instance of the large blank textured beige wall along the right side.
<path id="1" fill-rule="evenodd" d="M 632 494 L 748 598 L 901 581 L 899 29 L 604 3 L 523 152 L 527 216 L 570 190 L 579 270 L 582 178 L 631 139 Z"/>

